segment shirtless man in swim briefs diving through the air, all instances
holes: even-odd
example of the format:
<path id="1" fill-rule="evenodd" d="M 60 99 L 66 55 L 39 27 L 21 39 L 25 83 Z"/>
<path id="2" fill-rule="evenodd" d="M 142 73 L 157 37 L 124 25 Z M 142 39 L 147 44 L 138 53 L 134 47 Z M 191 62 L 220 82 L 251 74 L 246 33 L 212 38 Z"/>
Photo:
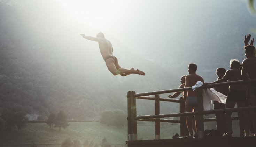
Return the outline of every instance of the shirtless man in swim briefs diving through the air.
<path id="1" fill-rule="evenodd" d="M 117 58 L 113 56 L 113 47 L 111 42 L 105 38 L 103 33 L 101 32 L 98 33 L 96 37 L 85 36 L 85 34 L 80 34 L 80 35 L 85 39 L 96 41 L 99 43 L 100 53 L 106 62 L 108 70 L 113 75 L 118 75 L 118 74 L 120 74 L 121 76 L 127 76 L 130 74 L 145 75 L 144 72 L 138 69 L 134 70 L 134 68 L 131 68 L 129 70 L 129 69 L 121 68 L 121 66 L 118 64 Z"/>

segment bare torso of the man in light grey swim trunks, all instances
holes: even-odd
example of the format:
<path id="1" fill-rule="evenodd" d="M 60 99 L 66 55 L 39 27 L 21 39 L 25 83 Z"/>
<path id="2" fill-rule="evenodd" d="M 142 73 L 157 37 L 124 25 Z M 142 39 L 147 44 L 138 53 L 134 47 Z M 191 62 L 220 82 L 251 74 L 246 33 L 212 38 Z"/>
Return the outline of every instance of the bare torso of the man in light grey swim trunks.
<path id="1" fill-rule="evenodd" d="M 186 85 L 186 87 L 194 86 L 197 81 L 204 82 L 203 77 L 201 77 L 200 75 L 197 75 L 197 74 L 187 75 L 186 82 L 188 82 L 188 85 Z M 197 93 L 196 93 L 196 91 L 189 90 L 189 91 L 187 91 L 187 96 L 197 97 Z"/>

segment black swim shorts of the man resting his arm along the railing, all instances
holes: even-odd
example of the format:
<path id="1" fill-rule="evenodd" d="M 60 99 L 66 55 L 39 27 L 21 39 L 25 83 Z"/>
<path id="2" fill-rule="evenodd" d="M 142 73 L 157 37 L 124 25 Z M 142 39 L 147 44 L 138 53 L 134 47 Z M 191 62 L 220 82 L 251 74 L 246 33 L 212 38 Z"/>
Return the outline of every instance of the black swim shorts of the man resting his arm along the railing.
<path id="1" fill-rule="evenodd" d="M 245 102 L 246 91 L 230 89 L 227 94 L 227 100 L 233 102 Z"/>

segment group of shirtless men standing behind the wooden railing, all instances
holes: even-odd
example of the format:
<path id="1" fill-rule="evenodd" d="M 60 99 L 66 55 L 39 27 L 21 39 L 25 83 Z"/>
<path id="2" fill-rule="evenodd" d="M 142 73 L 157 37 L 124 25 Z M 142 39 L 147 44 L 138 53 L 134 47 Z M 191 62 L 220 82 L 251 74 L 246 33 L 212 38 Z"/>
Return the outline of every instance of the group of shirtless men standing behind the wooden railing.
<path id="1" fill-rule="evenodd" d="M 250 41 L 250 44 L 248 42 Z M 188 65 L 188 75 L 181 77 L 181 85 L 179 88 L 192 87 L 197 81 L 203 82 L 203 87 L 208 84 L 256 79 L 256 50 L 253 46 L 254 38 L 251 35 L 245 36 L 245 56 L 242 64 L 237 59 L 230 60 L 230 69 L 226 71 L 225 68 L 217 68 L 218 79 L 211 83 L 204 83 L 203 77 L 196 74 L 197 65 L 191 63 Z M 250 84 L 236 84 L 230 86 L 216 87 L 217 92 L 227 96 L 226 104 L 214 101 L 214 109 L 234 108 L 237 107 L 256 106 L 256 83 Z M 176 98 L 182 92 L 175 92 L 173 95 L 168 95 L 169 98 Z M 196 91 L 184 91 L 183 98 L 186 104 L 186 112 L 197 111 L 197 93 Z M 223 137 L 232 137 L 232 112 L 216 113 L 217 130 Z M 240 111 L 238 112 L 240 137 L 255 136 L 256 132 L 256 114 L 255 111 Z M 193 123 L 193 120 L 195 123 Z M 193 128 L 197 132 L 197 115 L 187 116 L 187 128 L 190 136 L 193 136 Z M 194 127 L 193 127 L 194 124 Z M 189 135 L 188 134 L 188 135 Z"/>

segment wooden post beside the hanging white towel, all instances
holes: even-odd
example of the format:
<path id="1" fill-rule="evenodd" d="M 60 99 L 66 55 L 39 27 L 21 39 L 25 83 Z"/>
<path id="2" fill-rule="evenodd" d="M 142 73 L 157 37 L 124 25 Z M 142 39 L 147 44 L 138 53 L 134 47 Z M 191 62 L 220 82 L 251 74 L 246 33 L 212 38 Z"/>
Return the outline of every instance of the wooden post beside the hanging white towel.
<path id="1" fill-rule="evenodd" d="M 198 138 L 204 138 L 204 123 L 203 123 L 203 90 L 201 88 L 197 91 L 197 112 L 198 112 Z"/>

